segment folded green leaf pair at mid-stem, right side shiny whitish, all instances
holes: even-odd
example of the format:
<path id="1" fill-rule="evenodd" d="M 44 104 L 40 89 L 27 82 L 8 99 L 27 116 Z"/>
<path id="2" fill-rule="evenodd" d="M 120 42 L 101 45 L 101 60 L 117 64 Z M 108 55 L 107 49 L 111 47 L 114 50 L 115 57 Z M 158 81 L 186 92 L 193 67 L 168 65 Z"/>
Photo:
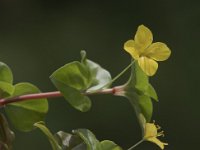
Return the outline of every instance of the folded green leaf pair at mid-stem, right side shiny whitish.
<path id="1" fill-rule="evenodd" d="M 64 98 L 77 110 L 86 112 L 91 108 L 91 100 L 85 92 L 95 92 L 111 81 L 108 71 L 86 58 L 81 52 L 82 61 L 74 61 L 56 70 L 50 77 Z"/>

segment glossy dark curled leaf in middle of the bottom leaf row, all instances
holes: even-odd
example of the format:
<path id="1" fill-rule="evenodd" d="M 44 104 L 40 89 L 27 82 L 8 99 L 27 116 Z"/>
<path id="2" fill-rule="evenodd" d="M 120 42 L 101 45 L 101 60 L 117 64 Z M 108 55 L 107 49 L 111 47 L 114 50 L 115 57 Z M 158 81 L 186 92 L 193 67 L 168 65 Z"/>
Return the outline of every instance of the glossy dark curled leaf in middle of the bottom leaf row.
<path id="1" fill-rule="evenodd" d="M 88 129 L 73 130 L 73 133 L 78 135 L 87 145 L 87 150 L 101 150 L 100 142 L 95 135 Z"/>

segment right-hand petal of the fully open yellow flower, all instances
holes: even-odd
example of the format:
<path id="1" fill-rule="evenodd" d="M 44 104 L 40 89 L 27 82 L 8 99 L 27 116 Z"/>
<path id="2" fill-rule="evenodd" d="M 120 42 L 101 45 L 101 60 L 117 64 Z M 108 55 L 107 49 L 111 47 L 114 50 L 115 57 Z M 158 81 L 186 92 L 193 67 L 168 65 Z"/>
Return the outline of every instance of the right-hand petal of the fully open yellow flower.
<path id="1" fill-rule="evenodd" d="M 169 58 L 171 50 L 167 47 L 166 44 L 161 42 L 153 43 L 148 47 L 143 55 L 150 57 L 156 61 L 164 61 Z"/>

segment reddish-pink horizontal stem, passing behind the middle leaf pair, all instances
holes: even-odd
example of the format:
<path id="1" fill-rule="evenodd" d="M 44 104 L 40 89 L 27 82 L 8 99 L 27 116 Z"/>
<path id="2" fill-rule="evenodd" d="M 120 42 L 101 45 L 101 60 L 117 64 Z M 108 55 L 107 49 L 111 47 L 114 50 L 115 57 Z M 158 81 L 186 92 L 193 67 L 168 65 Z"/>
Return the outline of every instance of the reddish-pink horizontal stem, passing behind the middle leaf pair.
<path id="1" fill-rule="evenodd" d="M 113 87 L 110 89 L 104 89 L 101 91 L 97 91 L 96 93 L 90 93 L 85 92 L 84 95 L 93 95 L 93 94 L 115 94 L 116 90 L 120 90 L 118 87 Z M 56 97 L 62 97 L 62 93 L 60 91 L 53 91 L 53 92 L 45 92 L 45 93 L 34 93 L 34 94 L 26 94 L 11 98 L 2 98 L 0 99 L 0 106 L 4 106 L 9 103 L 14 102 L 21 102 L 21 101 L 27 101 L 27 100 L 33 100 L 33 99 L 41 99 L 41 98 L 56 98 Z"/>

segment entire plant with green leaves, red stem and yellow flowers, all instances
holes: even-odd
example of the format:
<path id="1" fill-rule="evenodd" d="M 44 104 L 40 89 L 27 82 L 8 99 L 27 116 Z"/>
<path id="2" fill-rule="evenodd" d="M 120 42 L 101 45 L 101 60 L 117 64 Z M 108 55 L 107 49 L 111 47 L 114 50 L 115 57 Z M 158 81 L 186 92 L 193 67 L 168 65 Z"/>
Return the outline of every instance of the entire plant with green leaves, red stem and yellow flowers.
<path id="1" fill-rule="evenodd" d="M 135 110 L 142 129 L 142 139 L 129 150 L 143 141 L 157 144 L 161 149 L 167 143 L 157 137 L 163 132 L 151 122 L 153 113 L 152 99 L 158 102 L 158 96 L 149 82 L 149 76 L 156 73 L 156 61 L 166 60 L 171 51 L 166 44 L 152 43 L 151 31 L 141 25 L 138 27 L 134 40 L 128 40 L 124 49 L 131 57 L 128 65 L 115 78 L 99 64 L 87 58 L 86 52 L 81 51 L 81 61 L 73 61 L 58 68 L 50 76 L 50 80 L 58 89 L 56 92 L 41 93 L 33 84 L 22 82 L 13 84 L 11 69 L 0 62 L 0 106 L 12 125 L 23 132 L 40 129 L 48 138 L 53 150 L 122 150 L 113 141 L 99 141 L 88 129 L 76 129 L 71 133 L 59 131 L 52 134 L 45 125 L 48 112 L 47 98 L 63 96 L 75 109 L 86 112 L 92 107 L 91 94 L 113 94 L 129 100 Z M 111 87 L 131 67 L 129 80 L 124 84 Z M 0 114 L 0 149 L 12 149 L 14 133 L 10 130 L 6 118 Z"/>

